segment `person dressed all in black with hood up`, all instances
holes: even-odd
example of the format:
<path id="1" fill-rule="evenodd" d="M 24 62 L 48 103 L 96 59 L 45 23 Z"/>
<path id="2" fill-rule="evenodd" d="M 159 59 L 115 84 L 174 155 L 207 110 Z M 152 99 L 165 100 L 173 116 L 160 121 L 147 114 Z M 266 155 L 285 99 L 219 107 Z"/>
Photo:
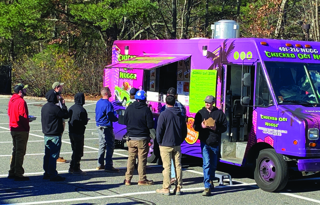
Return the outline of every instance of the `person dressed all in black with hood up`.
<path id="1" fill-rule="evenodd" d="M 72 148 L 69 173 L 73 175 L 86 175 L 85 171 L 80 170 L 80 160 L 83 157 L 84 131 L 88 124 L 88 114 L 83 107 L 83 92 L 75 95 L 75 104 L 69 108 L 69 138 Z"/>

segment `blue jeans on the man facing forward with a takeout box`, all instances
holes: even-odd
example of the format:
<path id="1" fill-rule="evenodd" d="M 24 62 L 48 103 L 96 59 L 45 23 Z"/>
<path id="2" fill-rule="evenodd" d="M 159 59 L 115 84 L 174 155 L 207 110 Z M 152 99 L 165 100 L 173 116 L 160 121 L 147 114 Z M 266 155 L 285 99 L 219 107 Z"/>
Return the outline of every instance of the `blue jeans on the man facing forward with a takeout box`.
<path id="1" fill-rule="evenodd" d="M 213 181 L 217 169 L 219 146 L 208 146 L 200 141 L 200 147 L 203 159 L 204 188 L 211 188 L 210 181 Z"/>

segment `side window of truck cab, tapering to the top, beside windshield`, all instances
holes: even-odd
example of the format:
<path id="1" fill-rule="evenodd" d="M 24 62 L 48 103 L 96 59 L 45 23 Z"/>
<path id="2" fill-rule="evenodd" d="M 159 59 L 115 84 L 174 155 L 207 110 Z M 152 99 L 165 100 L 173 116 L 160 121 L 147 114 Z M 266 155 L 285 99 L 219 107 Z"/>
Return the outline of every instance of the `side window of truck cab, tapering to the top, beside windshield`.
<path id="1" fill-rule="evenodd" d="M 261 64 L 257 64 L 256 72 L 256 96 L 255 96 L 255 105 L 259 107 L 268 107 L 274 105 L 270 91 L 268 88 L 268 83 L 266 77 L 263 74 Z"/>

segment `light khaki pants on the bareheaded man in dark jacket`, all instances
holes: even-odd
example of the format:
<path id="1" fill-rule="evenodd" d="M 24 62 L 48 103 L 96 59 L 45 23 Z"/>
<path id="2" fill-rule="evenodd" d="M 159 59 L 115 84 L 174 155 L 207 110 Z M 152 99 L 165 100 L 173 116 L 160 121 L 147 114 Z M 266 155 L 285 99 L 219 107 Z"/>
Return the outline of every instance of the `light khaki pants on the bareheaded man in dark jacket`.
<path id="1" fill-rule="evenodd" d="M 163 185 L 164 189 L 170 189 L 171 180 L 171 159 L 176 173 L 176 186 L 182 188 L 182 170 L 181 170 L 181 146 L 161 146 L 160 155 L 163 163 Z"/>

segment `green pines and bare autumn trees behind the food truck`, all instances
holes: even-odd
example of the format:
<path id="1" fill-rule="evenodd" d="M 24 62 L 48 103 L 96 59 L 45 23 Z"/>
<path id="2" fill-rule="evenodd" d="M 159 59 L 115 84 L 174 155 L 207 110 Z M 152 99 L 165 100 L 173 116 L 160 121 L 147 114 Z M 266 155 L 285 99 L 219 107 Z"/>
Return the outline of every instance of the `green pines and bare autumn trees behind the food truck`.
<path id="1" fill-rule="evenodd" d="M 12 84 L 44 96 L 98 94 L 115 40 L 211 36 L 218 20 L 240 22 L 240 37 L 320 41 L 318 0 L 0 0 L 0 66 Z"/>

